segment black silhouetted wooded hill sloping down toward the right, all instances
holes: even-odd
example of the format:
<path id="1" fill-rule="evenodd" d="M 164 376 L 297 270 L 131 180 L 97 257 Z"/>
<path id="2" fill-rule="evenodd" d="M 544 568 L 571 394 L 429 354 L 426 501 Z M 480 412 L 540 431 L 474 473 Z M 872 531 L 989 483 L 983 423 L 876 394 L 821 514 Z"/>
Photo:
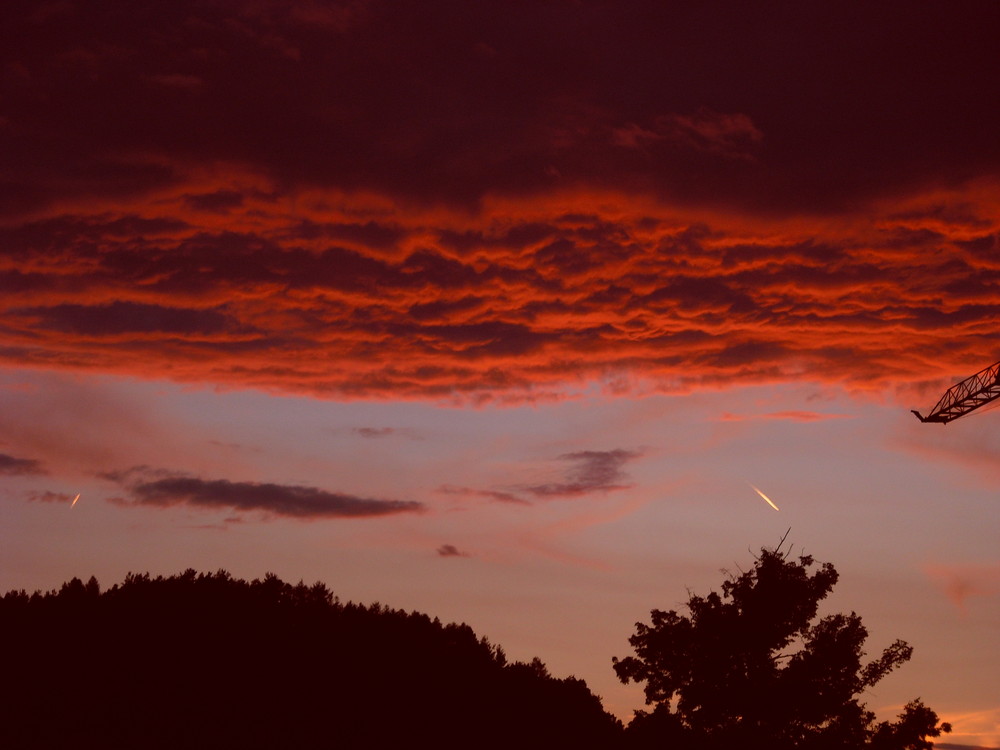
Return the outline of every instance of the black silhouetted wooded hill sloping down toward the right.
<path id="1" fill-rule="evenodd" d="M 4 748 L 612 748 L 586 683 L 467 625 L 189 570 L 0 599 Z"/>

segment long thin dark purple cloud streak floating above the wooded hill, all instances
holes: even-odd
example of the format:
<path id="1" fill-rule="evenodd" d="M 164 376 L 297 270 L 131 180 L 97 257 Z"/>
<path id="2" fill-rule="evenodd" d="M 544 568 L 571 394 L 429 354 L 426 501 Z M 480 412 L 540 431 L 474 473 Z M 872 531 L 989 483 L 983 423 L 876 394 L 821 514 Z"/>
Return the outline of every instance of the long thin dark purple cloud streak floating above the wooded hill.
<path id="1" fill-rule="evenodd" d="M 133 505 L 231 508 L 292 518 L 364 518 L 423 508 L 412 501 L 376 500 L 300 485 L 177 476 L 145 467 L 103 476 L 122 483 L 131 496 L 125 503 Z"/>

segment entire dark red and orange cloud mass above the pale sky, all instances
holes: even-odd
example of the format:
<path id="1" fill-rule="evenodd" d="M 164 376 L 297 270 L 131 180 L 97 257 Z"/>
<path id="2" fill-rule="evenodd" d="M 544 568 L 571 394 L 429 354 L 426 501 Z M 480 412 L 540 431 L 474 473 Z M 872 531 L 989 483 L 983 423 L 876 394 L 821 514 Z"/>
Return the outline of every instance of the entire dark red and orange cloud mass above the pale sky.
<path id="1" fill-rule="evenodd" d="M 0 362 L 482 402 L 1000 355 L 1000 6 L 0 8 Z"/>

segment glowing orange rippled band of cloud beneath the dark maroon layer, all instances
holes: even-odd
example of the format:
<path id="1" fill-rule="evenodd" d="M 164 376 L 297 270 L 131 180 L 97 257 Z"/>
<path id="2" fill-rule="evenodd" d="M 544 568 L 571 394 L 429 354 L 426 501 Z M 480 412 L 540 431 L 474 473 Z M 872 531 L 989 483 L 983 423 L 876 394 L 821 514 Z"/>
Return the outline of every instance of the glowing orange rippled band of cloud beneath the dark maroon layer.
<path id="1" fill-rule="evenodd" d="M 577 197 L 602 213 L 544 220 L 508 202 L 502 218 L 350 222 L 324 219 L 316 195 L 306 216 L 237 195 L 183 191 L 149 215 L 109 204 L 0 227 L 0 359 L 482 401 L 558 397 L 625 372 L 661 390 L 813 379 L 930 393 L 995 354 L 1000 269 L 979 247 L 994 242 L 996 204 L 967 206 L 950 235 L 928 211 L 927 251 L 886 217 L 847 234 L 783 234 L 781 221 L 765 233 L 733 216 L 714 228 L 629 214 L 613 194 Z M 216 211 L 243 229 L 217 229 Z M 919 221 L 908 210 L 906 232 Z"/>

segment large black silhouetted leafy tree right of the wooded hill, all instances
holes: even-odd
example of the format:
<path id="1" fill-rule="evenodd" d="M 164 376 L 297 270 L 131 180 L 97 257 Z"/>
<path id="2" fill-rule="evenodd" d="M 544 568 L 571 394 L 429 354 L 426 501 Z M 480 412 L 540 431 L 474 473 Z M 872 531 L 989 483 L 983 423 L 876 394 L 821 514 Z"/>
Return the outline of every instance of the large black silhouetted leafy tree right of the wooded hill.
<path id="1" fill-rule="evenodd" d="M 782 539 L 782 543 L 784 539 Z M 910 658 L 897 640 L 862 663 L 868 631 L 855 613 L 816 620 L 838 574 L 829 563 L 764 548 L 722 594 L 690 594 L 688 613 L 653 610 L 636 624 L 635 656 L 613 659 L 622 682 L 645 683 L 633 747 L 923 750 L 951 728 L 919 700 L 876 723 L 859 694 Z"/>

